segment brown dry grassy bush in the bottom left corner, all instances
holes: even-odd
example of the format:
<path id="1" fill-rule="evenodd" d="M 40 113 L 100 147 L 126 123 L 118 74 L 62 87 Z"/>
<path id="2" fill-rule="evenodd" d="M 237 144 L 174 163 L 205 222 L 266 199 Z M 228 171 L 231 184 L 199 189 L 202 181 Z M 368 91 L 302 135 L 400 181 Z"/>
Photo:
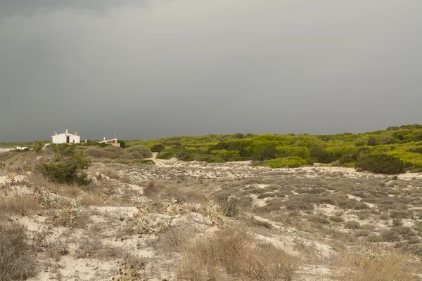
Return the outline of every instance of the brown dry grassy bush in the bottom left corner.
<path id="1" fill-rule="evenodd" d="M 34 247 L 27 242 L 25 228 L 0 223 L 0 281 L 26 280 L 37 274 Z"/>

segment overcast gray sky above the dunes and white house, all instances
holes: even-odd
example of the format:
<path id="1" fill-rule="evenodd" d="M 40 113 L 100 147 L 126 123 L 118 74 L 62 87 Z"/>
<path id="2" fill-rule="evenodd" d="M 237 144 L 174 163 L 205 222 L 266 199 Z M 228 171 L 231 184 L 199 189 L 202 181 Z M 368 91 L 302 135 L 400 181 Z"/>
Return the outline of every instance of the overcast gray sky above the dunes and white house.
<path id="1" fill-rule="evenodd" d="M 422 123 L 421 0 L 0 0 L 0 141 Z"/>

